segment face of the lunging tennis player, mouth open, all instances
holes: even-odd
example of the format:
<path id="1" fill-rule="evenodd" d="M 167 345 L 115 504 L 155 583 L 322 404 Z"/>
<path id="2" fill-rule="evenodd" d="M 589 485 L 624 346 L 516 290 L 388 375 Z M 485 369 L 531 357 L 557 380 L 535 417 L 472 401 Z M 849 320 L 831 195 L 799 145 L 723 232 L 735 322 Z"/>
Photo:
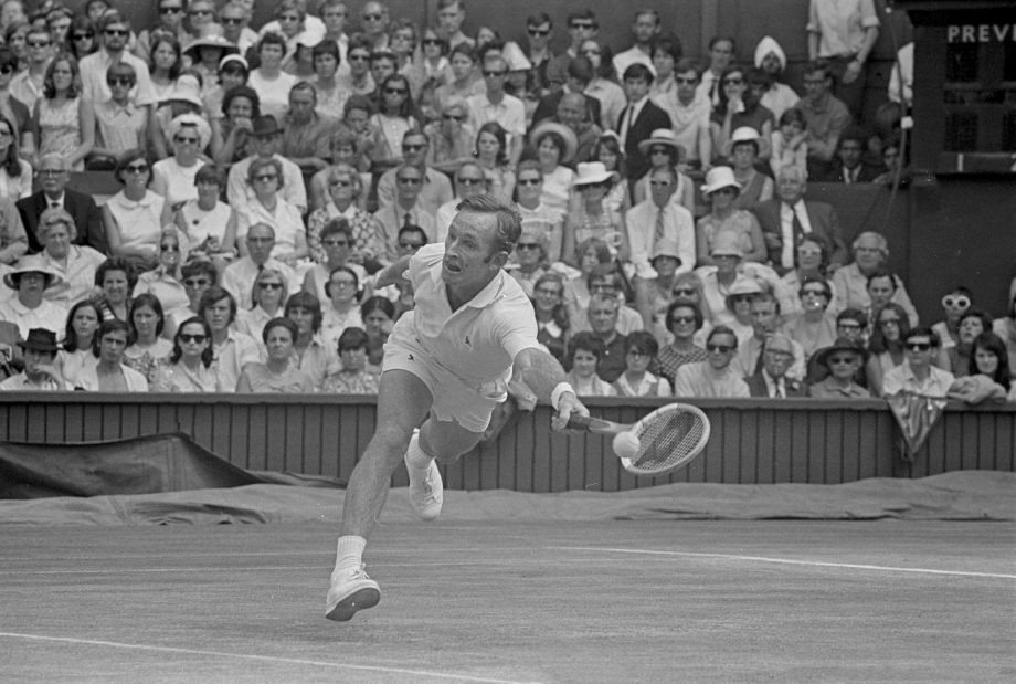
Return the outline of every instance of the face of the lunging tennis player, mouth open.
<path id="1" fill-rule="evenodd" d="M 447 285 L 481 290 L 497 274 L 508 255 L 494 251 L 496 217 L 461 211 L 448 227 L 442 277 Z"/>

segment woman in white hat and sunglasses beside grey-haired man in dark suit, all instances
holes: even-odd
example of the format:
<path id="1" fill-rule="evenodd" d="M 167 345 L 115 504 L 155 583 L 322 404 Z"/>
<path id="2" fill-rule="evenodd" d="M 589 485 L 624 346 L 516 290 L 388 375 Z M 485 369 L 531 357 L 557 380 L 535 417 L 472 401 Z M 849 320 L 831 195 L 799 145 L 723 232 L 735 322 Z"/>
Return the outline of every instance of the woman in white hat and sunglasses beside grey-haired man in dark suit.
<path id="1" fill-rule="evenodd" d="M 695 227 L 695 244 L 699 266 L 715 266 L 712 250 L 721 232 L 737 235 L 738 246 L 745 261 L 764 262 L 769 256 L 762 228 L 750 211 L 738 209 L 734 202 L 741 192 L 741 183 L 729 166 L 717 166 L 706 173 L 702 194 L 711 203 L 709 213 L 698 220 Z"/>

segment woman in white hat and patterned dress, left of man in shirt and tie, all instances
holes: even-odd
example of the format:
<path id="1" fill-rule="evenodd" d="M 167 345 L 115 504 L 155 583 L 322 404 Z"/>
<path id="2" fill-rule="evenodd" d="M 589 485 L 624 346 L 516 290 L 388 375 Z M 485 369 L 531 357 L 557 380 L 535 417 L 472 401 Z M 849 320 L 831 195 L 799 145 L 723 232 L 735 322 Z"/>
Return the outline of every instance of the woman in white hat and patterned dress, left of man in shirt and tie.
<path id="1" fill-rule="evenodd" d="M 624 214 L 614 211 L 604 198 L 620 181 L 620 176 L 607 171 L 602 161 L 584 161 L 579 165 L 579 175 L 572 188 L 579 199 L 572 202 L 564 220 L 564 254 L 571 254 L 575 245 L 590 238 L 606 242 L 611 252 L 621 262 L 628 261 L 631 250 Z"/>

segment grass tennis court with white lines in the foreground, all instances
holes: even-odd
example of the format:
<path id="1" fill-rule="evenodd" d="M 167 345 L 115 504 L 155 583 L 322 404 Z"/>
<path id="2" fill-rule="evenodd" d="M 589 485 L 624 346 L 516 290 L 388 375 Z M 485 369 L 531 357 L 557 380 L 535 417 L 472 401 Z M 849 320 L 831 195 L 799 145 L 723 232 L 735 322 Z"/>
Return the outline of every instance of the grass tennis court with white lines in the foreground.
<path id="1" fill-rule="evenodd" d="M 4 527 L 7 681 L 1016 678 L 1016 524 L 381 524 L 322 618 L 321 523 Z"/>

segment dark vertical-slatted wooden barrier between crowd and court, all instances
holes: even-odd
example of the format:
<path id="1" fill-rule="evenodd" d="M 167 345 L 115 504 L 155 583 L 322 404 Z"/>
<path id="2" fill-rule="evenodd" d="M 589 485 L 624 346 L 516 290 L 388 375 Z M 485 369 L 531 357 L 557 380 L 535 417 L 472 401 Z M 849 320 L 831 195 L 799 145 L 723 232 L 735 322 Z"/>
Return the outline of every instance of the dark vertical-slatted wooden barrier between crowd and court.
<path id="1" fill-rule="evenodd" d="M 837 484 L 955 470 L 1016 470 L 1016 406 L 946 410 L 913 464 L 900 457 L 895 420 L 880 400 L 699 400 L 712 436 L 706 453 L 667 477 L 636 480 L 601 435 L 550 429 L 550 410 L 518 414 L 496 441 L 444 469 L 457 490 L 614 492 L 665 484 Z M 592 399 L 594 414 L 633 422 L 659 400 Z M 7 392 L 0 440 L 52 444 L 181 432 L 251 470 L 348 478 L 374 430 L 374 403 L 320 396 L 106 396 Z M 396 472 L 396 486 L 406 484 Z"/>

